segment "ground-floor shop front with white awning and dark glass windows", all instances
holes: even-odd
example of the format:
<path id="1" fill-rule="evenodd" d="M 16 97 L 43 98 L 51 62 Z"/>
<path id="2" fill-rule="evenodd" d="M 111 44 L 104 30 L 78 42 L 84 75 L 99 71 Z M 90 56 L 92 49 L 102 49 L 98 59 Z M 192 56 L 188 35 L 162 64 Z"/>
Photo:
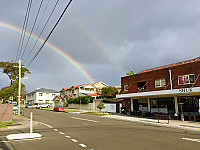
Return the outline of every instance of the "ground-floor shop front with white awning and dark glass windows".
<path id="1" fill-rule="evenodd" d="M 129 105 L 134 115 L 162 114 L 170 119 L 199 119 L 200 87 L 121 94 L 117 98 L 131 99 L 130 103 L 124 104 Z"/>

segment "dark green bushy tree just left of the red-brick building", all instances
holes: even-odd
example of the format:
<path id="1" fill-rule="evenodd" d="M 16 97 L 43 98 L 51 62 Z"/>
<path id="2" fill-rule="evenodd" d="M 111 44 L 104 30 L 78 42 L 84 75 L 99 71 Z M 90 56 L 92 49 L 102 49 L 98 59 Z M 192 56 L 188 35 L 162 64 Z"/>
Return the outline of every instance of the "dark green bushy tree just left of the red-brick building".
<path id="1" fill-rule="evenodd" d="M 117 89 L 112 86 L 104 87 L 101 90 L 101 94 L 103 98 L 114 98 L 117 92 L 118 92 Z"/>

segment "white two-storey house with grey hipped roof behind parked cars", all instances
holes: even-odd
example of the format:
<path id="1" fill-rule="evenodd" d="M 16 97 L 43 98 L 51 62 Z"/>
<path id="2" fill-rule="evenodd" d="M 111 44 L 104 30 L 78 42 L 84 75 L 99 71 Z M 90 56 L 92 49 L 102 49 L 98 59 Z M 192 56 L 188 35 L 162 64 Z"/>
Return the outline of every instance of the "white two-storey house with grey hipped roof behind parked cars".
<path id="1" fill-rule="evenodd" d="M 48 103 L 52 105 L 56 95 L 59 95 L 59 92 L 53 89 L 37 88 L 26 95 L 26 103 Z"/>

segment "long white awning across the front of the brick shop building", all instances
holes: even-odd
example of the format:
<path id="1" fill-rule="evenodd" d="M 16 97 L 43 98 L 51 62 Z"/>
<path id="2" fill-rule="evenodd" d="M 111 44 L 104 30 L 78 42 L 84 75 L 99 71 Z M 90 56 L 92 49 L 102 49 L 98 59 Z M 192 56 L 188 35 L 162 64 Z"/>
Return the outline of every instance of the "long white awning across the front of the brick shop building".
<path id="1" fill-rule="evenodd" d="M 160 90 L 151 92 L 119 94 L 116 98 L 156 98 L 156 97 L 174 97 L 174 96 L 194 96 L 200 95 L 200 87 Z"/>

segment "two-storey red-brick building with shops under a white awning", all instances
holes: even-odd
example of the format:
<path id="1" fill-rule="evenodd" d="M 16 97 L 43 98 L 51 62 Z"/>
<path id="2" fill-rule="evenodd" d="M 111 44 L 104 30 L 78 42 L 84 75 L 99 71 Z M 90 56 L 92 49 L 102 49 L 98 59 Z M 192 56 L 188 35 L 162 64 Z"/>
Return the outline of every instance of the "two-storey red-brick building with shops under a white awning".
<path id="1" fill-rule="evenodd" d="M 122 107 L 191 119 L 200 112 L 200 57 L 121 77 Z"/>

